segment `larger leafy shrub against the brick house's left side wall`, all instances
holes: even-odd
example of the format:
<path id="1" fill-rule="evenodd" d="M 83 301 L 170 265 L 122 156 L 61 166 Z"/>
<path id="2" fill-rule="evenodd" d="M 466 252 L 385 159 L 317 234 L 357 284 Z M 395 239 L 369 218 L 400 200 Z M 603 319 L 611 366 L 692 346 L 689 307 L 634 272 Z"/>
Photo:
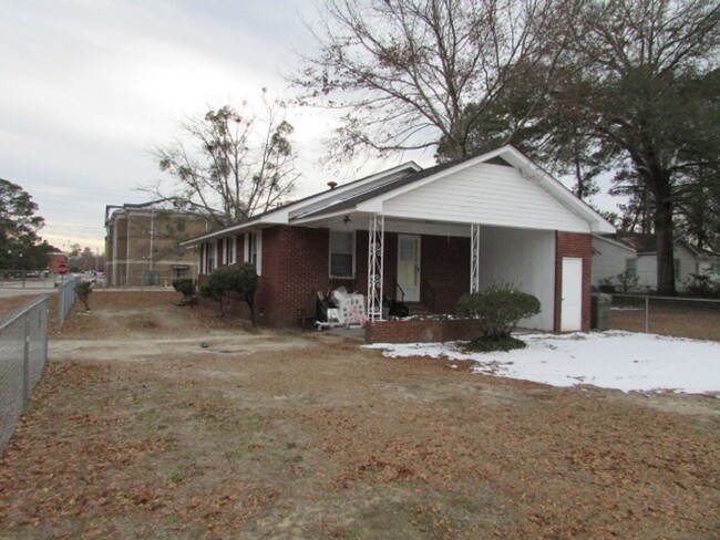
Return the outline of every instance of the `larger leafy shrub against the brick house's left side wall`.
<path id="1" fill-rule="evenodd" d="M 247 303 L 250 321 L 255 325 L 255 292 L 258 277 L 249 262 L 238 266 L 229 264 L 214 270 L 207 281 L 199 288 L 200 297 L 215 300 L 220 304 L 220 316 L 225 316 L 225 305 L 229 300 Z"/>

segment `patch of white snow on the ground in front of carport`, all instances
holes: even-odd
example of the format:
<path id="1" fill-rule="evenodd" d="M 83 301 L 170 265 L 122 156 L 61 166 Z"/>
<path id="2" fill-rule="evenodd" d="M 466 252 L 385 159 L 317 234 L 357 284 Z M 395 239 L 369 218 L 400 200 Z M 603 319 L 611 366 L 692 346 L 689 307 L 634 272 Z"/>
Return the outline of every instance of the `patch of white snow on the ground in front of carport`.
<path id="1" fill-rule="evenodd" d="M 390 357 L 475 362 L 473 371 L 553 386 L 592 384 L 630 391 L 720 392 L 720 342 L 628 332 L 521 334 L 526 349 L 470 353 L 461 343 L 377 343 Z"/>

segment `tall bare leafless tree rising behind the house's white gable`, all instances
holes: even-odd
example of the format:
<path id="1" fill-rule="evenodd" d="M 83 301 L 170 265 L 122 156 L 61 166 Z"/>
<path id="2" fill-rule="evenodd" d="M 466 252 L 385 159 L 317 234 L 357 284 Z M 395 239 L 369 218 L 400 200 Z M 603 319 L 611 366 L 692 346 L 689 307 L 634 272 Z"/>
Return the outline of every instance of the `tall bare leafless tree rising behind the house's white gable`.
<path id="1" fill-rule="evenodd" d="M 471 149 L 470 134 L 506 85 L 562 51 L 574 2 L 325 0 L 320 52 L 294 82 L 343 112 L 336 157 L 434 147 Z M 552 75 L 552 72 L 548 73 Z M 472 105 L 472 108 L 469 108 Z"/>

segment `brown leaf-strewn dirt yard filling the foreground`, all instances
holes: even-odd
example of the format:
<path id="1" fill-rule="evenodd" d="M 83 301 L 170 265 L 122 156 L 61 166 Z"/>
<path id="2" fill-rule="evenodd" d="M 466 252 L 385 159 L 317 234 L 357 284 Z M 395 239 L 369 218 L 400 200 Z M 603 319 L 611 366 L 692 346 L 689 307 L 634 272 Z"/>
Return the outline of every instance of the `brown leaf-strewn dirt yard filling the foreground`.
<path id="1" fill-rule="evenodd" d="M 96 292 L 0 461 L 0 538 L 716 539 L 720 399 L 553 388 Z"/>

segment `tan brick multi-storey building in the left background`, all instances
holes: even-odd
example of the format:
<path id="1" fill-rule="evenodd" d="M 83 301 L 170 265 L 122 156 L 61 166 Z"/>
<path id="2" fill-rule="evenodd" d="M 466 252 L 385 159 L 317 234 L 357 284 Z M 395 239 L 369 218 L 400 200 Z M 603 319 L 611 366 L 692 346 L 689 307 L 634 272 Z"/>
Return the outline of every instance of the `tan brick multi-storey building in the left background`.
<path id="1" fill-rule="evenodd" d="M 163 199 L 106 206 L 105 229 L 109 285 L 169 285 L 173 279 L 197 277 L 195 255 L 181 241 L 209 230 L 209 221 Z"/>

